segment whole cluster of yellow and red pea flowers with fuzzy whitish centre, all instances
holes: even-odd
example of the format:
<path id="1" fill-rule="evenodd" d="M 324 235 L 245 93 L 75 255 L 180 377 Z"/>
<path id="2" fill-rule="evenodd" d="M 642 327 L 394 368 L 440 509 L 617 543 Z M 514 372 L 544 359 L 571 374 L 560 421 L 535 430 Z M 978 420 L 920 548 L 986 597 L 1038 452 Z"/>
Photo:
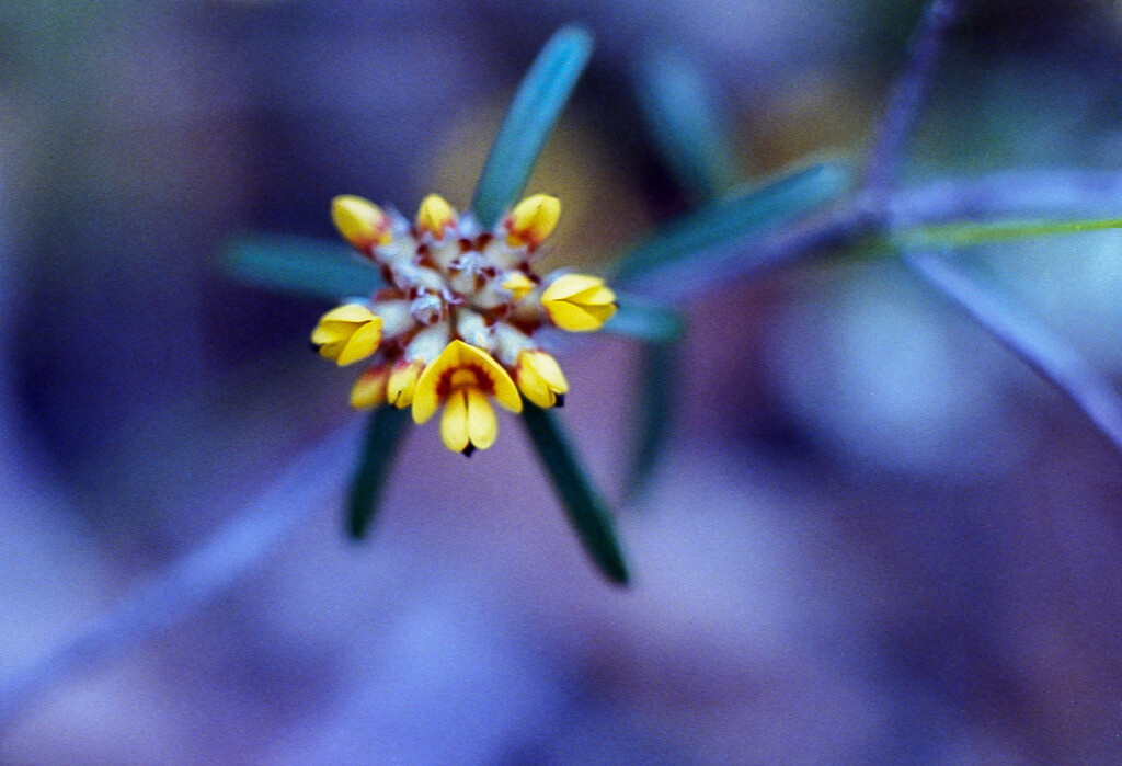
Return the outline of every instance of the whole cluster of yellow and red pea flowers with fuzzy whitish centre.
<path id="1" fill-rule="evenodd" d="M 515 413 L 522 397 L 562 405 L 569 384 L 535 334 L 599 330 L 616 296 L 597 277 L 534 274 L 531 260 L 560 213 L 557 197 L 537 194 L 487 231 L 436 195 L 413 223 L 361 197 L 335 197 L 335 227 L 386 284 L 329 311 L 312 332 L 319 352 L 340 367 L 371 360 L 351 405 L 412 406 L 419 424 L 443 405 L 441 439 L 468 455 L 495 443 L 490 399 Z"/>

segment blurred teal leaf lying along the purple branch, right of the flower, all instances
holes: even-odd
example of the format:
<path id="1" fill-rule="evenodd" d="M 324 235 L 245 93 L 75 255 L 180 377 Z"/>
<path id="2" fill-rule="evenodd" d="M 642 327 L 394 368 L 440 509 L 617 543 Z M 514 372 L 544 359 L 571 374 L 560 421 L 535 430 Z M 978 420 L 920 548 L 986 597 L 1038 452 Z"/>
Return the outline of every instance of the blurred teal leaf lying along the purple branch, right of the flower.
<path id="1" fill-rule="evenodd" d="M 843 163 L 821 163 L 769 183 L 739 187 L 727 196 L 668 225 L 632 248 L 618 262 L 613 282 L 647 278 L 655 270 L 706 270 L 714 251 L 760 236 L 828 202 L 848 188 L 852 172 Z"/>

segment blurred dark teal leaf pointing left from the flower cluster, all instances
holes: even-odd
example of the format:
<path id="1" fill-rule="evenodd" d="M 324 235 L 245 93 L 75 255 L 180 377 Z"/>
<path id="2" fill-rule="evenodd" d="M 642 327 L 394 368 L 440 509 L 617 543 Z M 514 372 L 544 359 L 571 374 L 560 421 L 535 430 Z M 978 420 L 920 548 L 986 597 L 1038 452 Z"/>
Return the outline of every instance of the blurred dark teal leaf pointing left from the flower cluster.
<path id="1" fill-rule="evenodd" d="M 230 241 L 220 258 L 247 284 L 328 301 L 368 295 L 381 284 L 377 269 L 346 244 L 309 237 L 249 234 Z"/>

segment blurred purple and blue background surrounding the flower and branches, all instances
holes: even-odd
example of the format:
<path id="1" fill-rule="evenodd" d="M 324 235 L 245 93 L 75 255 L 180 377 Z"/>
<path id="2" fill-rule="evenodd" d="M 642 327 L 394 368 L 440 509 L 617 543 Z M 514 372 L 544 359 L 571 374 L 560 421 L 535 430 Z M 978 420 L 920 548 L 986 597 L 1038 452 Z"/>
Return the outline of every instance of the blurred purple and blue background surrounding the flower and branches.
<path id="1" fill-rule="evenodd" d="M 921 3 L 502 0 L 0 4 L 0 674 L 201 544 L 352 419 L 328 305 L 224 242 L 332 238 L 328 203 L 463 206 L 559 26 L 592 64 L 532 191 L 596 264 L 687 210 L 635 96 L 710 77 L 737 169 L 859 153 Z M 910 182 L 1122 161 L 1122 26 L 968 2 Z M 965 253 L 1111 376 L 1122 238 Z M 1087 764 L 1122 759 L 1122 458 L 891 260 L 684 306 L 664 460 L 624 502 L 633 344 L 567 349 L 563 412 L 618 509 L 586 561 L 514 418 L 471 461 L 411 432 L 375 534 L 330 501 L 185 619 L 31 701 L 0 760 Z M 302 501 L 302 496 L 292 498 Z"/>

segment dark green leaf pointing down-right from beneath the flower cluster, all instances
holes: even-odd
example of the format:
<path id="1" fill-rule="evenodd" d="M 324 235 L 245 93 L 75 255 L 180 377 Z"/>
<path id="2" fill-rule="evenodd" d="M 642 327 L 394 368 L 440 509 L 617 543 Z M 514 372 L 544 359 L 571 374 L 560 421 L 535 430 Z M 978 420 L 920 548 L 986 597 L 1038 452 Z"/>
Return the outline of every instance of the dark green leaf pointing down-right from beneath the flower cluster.
<path id="1" fill-rule="evenodd" d="M 522 422 L 592 561 L 609 580 L 626 585 L 629 575 L 611 516 L 585 476 L 553 413 L 527 402 Z"/>

